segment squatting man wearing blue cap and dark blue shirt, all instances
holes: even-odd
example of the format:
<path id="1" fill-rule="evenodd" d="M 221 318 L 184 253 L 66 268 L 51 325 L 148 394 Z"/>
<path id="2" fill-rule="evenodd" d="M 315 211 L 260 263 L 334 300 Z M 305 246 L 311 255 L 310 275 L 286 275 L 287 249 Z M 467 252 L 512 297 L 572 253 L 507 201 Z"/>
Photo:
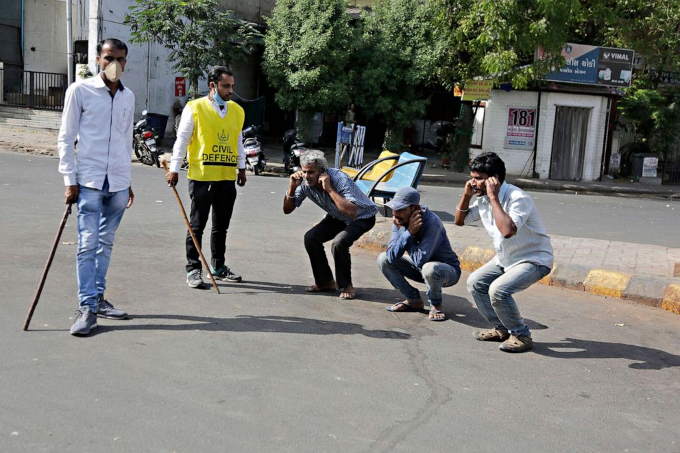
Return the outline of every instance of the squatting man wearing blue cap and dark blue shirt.
<path id="1" fill-rule="evenodd" d="M 387 206 L 393 211 L 392 236 L 387 252 L 378 256 L 378 268 L 406 297 L 387 310 L 419 311 L 424 308 L 420 291 L 406 281 L 409 278 L 425 283 L 430 321 L 444 321 L 441 289 L 457 284 L 461 278 L 458 256 L 451 249 L 444 225 L 434 212 L 420 206 L 420 193 L 413 187 L 400 188 Z"/>

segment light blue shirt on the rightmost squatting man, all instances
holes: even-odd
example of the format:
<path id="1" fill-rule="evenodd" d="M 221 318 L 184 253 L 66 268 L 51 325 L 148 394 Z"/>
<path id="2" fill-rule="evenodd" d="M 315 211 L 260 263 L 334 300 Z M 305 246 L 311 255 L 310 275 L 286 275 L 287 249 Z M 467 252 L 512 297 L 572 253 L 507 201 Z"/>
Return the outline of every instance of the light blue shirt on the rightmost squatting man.
<path id="1" fill-rule="evenodd" d="M 538 215 L 533 198 L 521 188 L 503 182 L 498 193 L 503 210 L 517 227 L 517 233 L 509 238 L 496 226 L 494 210 L 489 197 L 477 197 L 465 216 L 465 223 L 481 220 L 496 249 L 496 264 L 507 271 L 521 262 L 533 262 L 552 268 L 553 256 L 550 236 Z"/>

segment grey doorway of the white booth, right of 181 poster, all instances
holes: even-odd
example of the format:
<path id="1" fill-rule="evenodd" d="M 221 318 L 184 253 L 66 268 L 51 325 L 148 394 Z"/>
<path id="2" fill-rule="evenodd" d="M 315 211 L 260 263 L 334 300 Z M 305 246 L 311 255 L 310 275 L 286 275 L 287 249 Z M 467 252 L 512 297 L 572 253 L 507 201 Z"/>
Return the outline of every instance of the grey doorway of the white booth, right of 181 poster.
<path id="1" fill-rule="evenodd" d="M 550 179 L 580 181 L 592 108 L 556 106 Z"/>

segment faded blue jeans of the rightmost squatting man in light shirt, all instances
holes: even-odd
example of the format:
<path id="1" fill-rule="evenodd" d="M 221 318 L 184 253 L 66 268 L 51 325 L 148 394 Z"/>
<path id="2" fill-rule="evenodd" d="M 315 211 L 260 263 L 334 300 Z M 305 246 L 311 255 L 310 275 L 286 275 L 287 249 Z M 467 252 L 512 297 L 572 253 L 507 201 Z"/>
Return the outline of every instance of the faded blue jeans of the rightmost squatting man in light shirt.
<path id="1" fill-rule="evenodd" d="M 496 265 L 495 259 L 470 274 L 467 291 L 479 313 L 495 328 L 516 336 L 531 336 L 512 295 L 547 276 L 550 267 L 522 262 L 506 272 Z"/>

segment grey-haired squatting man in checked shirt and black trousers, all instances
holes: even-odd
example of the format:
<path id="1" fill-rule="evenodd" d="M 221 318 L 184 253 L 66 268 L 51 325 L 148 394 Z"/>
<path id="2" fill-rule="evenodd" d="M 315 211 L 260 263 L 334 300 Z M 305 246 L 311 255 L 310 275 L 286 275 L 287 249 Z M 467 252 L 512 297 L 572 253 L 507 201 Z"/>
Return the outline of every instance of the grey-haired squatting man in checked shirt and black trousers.
<path id="1" fill-rule="evenodd" d="M 302 170 L 293 173 L 283 200 L 283 212 L 290 214 L 305 198 L 326 211 L 326 217 L 304 234 L 304 247 L 314 273 L 309 293 L 341 291 L 341 299 L 354 299 L 350 247 L 376 223 L 378 207 L 348 175 L 339 169 L 328 168 L 321 151 L 307 151 L 300 158 Z M 304 182 L 304 184 L 302 184 Z M 335 261 L 335 279 L 328 265 L 324 243 L 332 240 L 330 248 Z"/>

